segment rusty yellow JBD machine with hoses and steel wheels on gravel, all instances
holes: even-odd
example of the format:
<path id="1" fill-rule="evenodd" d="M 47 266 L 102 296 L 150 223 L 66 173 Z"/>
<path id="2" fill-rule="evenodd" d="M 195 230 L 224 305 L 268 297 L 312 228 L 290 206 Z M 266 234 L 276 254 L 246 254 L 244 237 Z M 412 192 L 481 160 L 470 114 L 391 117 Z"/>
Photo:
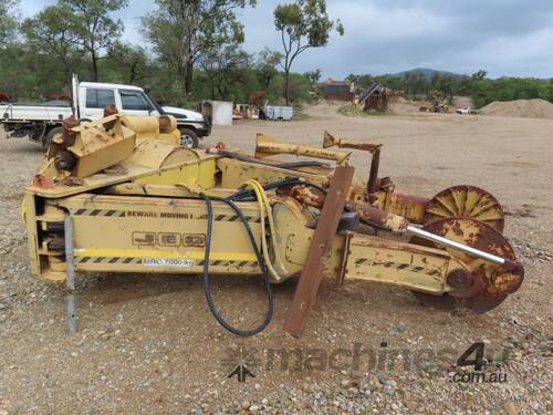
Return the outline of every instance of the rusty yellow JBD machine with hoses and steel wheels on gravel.
<path id="1" fill-rule="evenodd" d="M 70 293 L 76 272 L 204 273 L 217 320 L 250 335 L 271 320 L 269 282 L 299 274 L 284 325 L 299 335 L 323 277 L 401 286 L 425 302 L 477 312 L 523 280 L 493 196 L 472 186 L 431 199 L 397 194 L 377 177 L 380 145 L 325 135 L 325 147 L 373 155 L 363 180 L 347 152 L 262 135 L 253 157 L 223 146 L 184 148 L 170 116 L 64 125 L 25 189 L 23 212 L 32 272 L 66 282 Z M 231 328 L 212 303 L 210 274 L 262 274 L 270 304 L 262 326 Z"/>

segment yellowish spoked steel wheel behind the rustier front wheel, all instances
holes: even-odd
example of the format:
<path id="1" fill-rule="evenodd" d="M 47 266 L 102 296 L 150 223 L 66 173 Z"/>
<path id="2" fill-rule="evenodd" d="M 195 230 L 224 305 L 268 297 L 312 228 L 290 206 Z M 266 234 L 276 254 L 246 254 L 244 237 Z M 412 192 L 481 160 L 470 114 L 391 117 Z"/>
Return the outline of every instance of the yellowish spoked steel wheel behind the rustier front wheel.
<path id="1" fill-rule="evenodd" d="M 503 231 L 504 214 L 499 201 L 476 186 L 441 190 L 426 205 L 424 224 L 441 218 L 472 218 Z"/>

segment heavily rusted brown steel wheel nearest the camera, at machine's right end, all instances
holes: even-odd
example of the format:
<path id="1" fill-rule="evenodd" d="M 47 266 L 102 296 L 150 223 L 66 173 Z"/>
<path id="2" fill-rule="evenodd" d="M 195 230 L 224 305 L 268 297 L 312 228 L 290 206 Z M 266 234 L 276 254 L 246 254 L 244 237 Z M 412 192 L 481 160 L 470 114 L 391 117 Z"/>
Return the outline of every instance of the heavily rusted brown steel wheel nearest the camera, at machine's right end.
<path id="1" fill-rule="evenodd" d="M 453 290 L 439 297 L 413 291 L 422 303 L 446 310 L 465 307 L 477 313 L 483 313 L 498 307 L 521 286 L 524 271 L 515 262 L 517 258 L 511 245 L 491 226 L 469 218 L 447 218 L 427 224 L 422 229 L 510 260 L 510 262 L 499 266 L 455 248 L 446 248 L 429 240 L 414 237 L 410 243 L 445 249 L 449 255 L 466 263 L 473 280 L 472 287 Z M 456 276 L 450 273 L 448 280 L 450 277 L 455 278 Z"/>

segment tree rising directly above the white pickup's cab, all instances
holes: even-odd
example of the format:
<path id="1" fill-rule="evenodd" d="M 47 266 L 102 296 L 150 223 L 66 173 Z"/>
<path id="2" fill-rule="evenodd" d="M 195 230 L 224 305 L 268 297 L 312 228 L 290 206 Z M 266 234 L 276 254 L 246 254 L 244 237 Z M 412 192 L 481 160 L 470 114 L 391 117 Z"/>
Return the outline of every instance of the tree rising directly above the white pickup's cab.
<path id="1" fill-rule="evenodd" d="M 92 76 L 98 81 L 98 60 L 122 35 L 124 25 L 121 19 L 114 20 L 111 12 L 121 10 L 128 0 L 61 0 L 61 6 L 73 12 L 71 30 L 75 44 L 90 54 Z"/>

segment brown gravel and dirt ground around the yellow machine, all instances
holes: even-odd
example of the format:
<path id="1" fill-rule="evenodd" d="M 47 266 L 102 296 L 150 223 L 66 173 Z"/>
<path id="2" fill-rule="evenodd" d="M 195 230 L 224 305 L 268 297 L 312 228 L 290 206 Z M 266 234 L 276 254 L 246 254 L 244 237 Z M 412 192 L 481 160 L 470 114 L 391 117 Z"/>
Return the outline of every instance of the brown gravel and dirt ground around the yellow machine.
<path id="1" fill-rule="evenodd" d="M 251 152 L 260 132 L 320 145 L 325 128 L 383 143 L 382 175 L 399 191 L 431 196 L 457 184 L 491 191 L 508 212 L 504 234 L 525 266 L 522 288 L 478 315 L 422 307 L 397 288 L 349 283 L 335 291 L 325 281 L 304 335 L 294 340 L 282 331 L 295 287 L 286 281 L 274 287 L 269 329 L 238 339 L 212 319 L 199 277 L 86 274 L 79 278 L 80 330 L 66 336 L 63 288 L 30 274 L 20 219 L 41 148 L 2 136 L 0 415 L 552 413 L 553 121 L 345 117 L 321 104 L 303 121 L 216 127 L 206 144 L 225 141 Z M 367 174 L 363 155 L 353 164 Z M 261 319 L 259 280 L 218 278 L 213 284 L 231 321 Z M 504 382 L 456 382 L 472 372 L 457 374 L 455 363 L 476 341 L 484 343 L 487 376 L 499 373 Z M 228 375 L 242 361 L 255 377 L 240 383 Z"/>

